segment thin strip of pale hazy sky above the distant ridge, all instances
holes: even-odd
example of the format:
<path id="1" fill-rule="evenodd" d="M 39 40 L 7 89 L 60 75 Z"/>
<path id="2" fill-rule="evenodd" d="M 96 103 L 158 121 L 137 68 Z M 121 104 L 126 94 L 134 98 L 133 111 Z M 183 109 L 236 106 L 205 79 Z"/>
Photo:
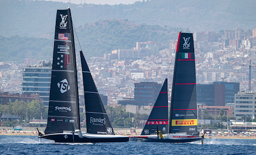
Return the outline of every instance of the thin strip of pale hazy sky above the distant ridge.
<path id="1" fill-rule="evenodd" d="M 142 1 L 142 0 L 43 0 L 43 1 L 55 1 L 55 2 L 71 2 L 74 4 L 81 4 L 87 3 L 87 4 L 108 4 L 108 5 L 115 5 L 115 4 L 133 4 L 136 1 Z"/>

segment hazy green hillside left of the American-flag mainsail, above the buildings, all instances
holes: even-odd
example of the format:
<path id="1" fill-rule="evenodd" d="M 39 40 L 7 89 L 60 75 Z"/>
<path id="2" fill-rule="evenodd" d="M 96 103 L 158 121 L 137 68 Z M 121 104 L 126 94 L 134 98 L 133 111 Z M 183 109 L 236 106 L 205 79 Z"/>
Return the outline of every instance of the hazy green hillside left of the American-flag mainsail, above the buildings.
<path id="1" fill-rule="evenodd" d="M 51 60 L 54 42 L 46 38 L 0 36 L 0 62 L 23 62 L 24 58 Z"/>

